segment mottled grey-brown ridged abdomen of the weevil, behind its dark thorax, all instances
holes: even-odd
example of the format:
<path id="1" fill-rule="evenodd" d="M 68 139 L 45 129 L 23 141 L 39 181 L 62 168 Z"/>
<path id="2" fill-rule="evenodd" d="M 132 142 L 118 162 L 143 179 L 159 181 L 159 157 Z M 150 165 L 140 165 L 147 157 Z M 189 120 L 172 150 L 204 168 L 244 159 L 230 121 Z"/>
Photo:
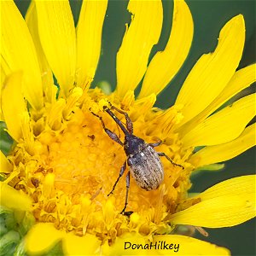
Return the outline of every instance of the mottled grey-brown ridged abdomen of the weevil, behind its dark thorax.
<path id="1" fill-rule="evenodd" d="M 154 148 L 148 145 L 140 153 L 128 158 L 131 176 L 145 190 L 157 189 L 164 179 L 163 166 Z"/>

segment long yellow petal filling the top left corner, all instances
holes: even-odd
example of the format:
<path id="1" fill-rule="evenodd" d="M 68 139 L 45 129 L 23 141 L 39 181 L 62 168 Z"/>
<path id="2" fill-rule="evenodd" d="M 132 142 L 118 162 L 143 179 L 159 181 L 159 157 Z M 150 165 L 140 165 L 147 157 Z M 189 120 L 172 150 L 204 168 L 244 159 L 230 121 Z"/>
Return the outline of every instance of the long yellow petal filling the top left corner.
<path id="1" fill-rule="evenodd" d="M 43 107 L 43 87 L 36 50 L 13 1 L 1 1 L 1 65 L 4 73 L 22 70 L 23 91 L 32 108 Z"/>

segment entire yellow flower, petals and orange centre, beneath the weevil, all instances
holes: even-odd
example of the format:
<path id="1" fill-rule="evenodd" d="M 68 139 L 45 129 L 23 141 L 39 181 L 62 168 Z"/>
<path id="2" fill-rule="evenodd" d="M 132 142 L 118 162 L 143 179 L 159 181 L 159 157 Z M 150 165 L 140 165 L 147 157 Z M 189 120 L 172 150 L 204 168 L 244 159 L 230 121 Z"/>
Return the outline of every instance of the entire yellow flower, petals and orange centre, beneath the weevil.
<path id="1" fill-rule="evenodd" d="M 34 1 L 26 20 L 14 2 L 1 2 L 2 113 L 15 140 L 12 152 L 7 157 L 1 154 L 6 177 L 1 204 L 15 212 L 32 212 L 37 224 L 25 238 L 30 254 L 45 253 L 58 241 L 68 255 L 145 253 L 142 248 L 125 250 L 125 241 L 173 243 L 167 253 L 229 254 L 223 247 L 173 234 L 178 224 L 230 227 L 255 216 L 253 175 L 234 177 L 188 196 L 190 175 L 196 169 L 234 158 L 255 143 L 255 124 L 247 126 L 255 114 L 255 94 L 216 112 L 255 81 L 255 65 L 236 71 L 245 40 L 243 17 L 237 15 L 225 24 L 217 48 L 201 56 L 175 104 L 161 110 L 154 108 L 156 96 L 183 65 L 193 38 L 187 4 L 174 1 L 166 48 L 148 64 L 160 38 L 162 3 L 129 2 L 131 24 L 117 54 L 117 87 L 109 96 L 89 89 L 107 5 L 106 0 L 84 1 L 75 28 L 68 1 Z M 103 111 L 108 102 L 129 114 L 137 137 L 147 143 L 162 140 L 157 151 L 184 167 L 162 159 L 164 181 L 152 191 L 131 178 L 126 209 L 132 212 L 130 217 L 120 214 L 125 177 L 108 196 L 125 152 L 90 112 L 102 116 L 123 141 L 124 135 Z M 125 121 L 122 114 L 116 115 Z M 198 146 L 204 148 L 195 153 Z M 18 220 L 25 218 L 19 216 Z M 153 247 L 146 253 L 166 249 Z"/>

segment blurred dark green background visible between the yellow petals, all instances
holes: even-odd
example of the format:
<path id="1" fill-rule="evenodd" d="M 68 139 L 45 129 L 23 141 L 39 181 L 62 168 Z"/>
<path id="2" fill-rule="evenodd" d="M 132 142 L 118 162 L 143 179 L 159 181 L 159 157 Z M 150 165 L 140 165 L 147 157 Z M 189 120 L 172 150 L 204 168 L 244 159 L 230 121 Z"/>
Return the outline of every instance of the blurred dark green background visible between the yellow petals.
<path id="1" fill-rule="evenodd" d="M 224 24 L 235 15 L 243 15 L 246 23 L 246 44 L 241 59 L 239 69 L 255 62 L 255 10 L 256 1 L 254 0 L 188 0 L 189 9 L 195 22 L 195 35 L 189 57 L 183 67 L 177 73 L 169 86 L 158 96 L 156 106 L 159 108 L 168 108 L 172 106 L 177 97 L 178 90 L 186 79 L 189 71 L 195 65 L 195 62 L 204 53 L 211 52 L 218 44 L 218 33 Z M 15 1 L 21 14 L 26 14 L 26 9 L 30 1 Z M 75 23 L 79 19 L 79 9 L 81 1 L 70 1 Z M 126 11 L 128 1 L 109 0 L 106 19 L 102 34 L 102 55 L 99 62 L 96 77 L 92 84 L 95 87 L 102 81 L 108 82 L 114 90 L 116 84 L 115 61 L 116 53 L 122 42 L 125 32 L 125 23 L 130 21 L 130 15 Z M 154 46 L 150 58 L 158 50 L 164 49 L 171 27 L 172 27 L 172 0 L 164 0 L 164 23 L 160 36 L 159 44 Z M 252 84 L 247 90 L 241 92 L 240 96 L 253 93 L 255 84 Z M 234 100 L 234 99 L 233 99 Z M 3 131 L 1 124 L 1 149 L 8 153 L 11 141 Z M 192 177 L 193 187 L 191 192 L 201 192 L 213 184 L 221 182 L 230 177 L 252 174 L 255 172 L 255 147 L 239 155 L 236 159 L 225 162 L 225 167 L 221 171 L 200 172 Z M 210 241 L 219 246 L 228 247 L 232 255 L 256 255 L 255 251 L 255 219 L 247 221 L 231 228 L 206 229 L 208 237 L 196 235 L 197 238 Z"/>

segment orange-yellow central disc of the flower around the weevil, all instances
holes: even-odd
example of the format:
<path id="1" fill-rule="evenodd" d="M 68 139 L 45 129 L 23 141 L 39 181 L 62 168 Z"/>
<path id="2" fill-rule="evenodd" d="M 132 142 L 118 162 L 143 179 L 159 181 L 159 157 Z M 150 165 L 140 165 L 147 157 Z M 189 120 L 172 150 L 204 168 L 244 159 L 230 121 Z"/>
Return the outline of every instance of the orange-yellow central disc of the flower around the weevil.
<path id="1" fill-rule="evenodd" d="M 56 229 L 72 231 L 77 236 L 89 233 L 111 244 L 126 232 L 136 231 L 143 236 L 170 232 L 171 224 L 163 220 L 186 198 L 192 170 L 186 162 L 189 152 L 181 149 L 172 125 L 165 126 L 168 116 L 176 120 L 173 117 L 177 110 L 173 108 L 165 113 L 150 108 L 143 118 L 134 118 L 134 113 L 140 110 L 133 103 L 125 105 L 125 111 L 133 116 L 134 134 L 147 143 L 162 140 L 163 144 L 155 148 L 156 151 L 165 152 L 185 167 L 183 170 L 162 158 L 164 181 L 159 189 L 152 191 L 140 188 L 131 177 L 126 208 L 131 216 L 127 217 L 120 214 L 125 204 L 125 174 L 113 194 L 108 196 L 127 158 L 125 151 L 108 137 L 100 120 L 90 112 L 93 109 L 102 116 L 108 129 L 124 141 L 122 131 L 102 110 L 107 103 L 101 93 L 94 91 L 79 107 L 74 104 L 67 119 L 55 121 L 51 127 L 46 124 L 51 113 L 45 109 L 44 129 L 37 136 L 33 132 L 32 154 L 26 152 L 28 142 L 22 141 L 9 156 L 19 171 L 11 184 L 32 198 L 33 214 L 38 222 L 53 223 Z M 121 108 L 120 102 L 115 104 Z M 121 114 L 116 115 L 125 123 Z M 35 121 L 31 123 L 35 124 Z M 59 128 L 56 130 L 56 127 Z"/>

